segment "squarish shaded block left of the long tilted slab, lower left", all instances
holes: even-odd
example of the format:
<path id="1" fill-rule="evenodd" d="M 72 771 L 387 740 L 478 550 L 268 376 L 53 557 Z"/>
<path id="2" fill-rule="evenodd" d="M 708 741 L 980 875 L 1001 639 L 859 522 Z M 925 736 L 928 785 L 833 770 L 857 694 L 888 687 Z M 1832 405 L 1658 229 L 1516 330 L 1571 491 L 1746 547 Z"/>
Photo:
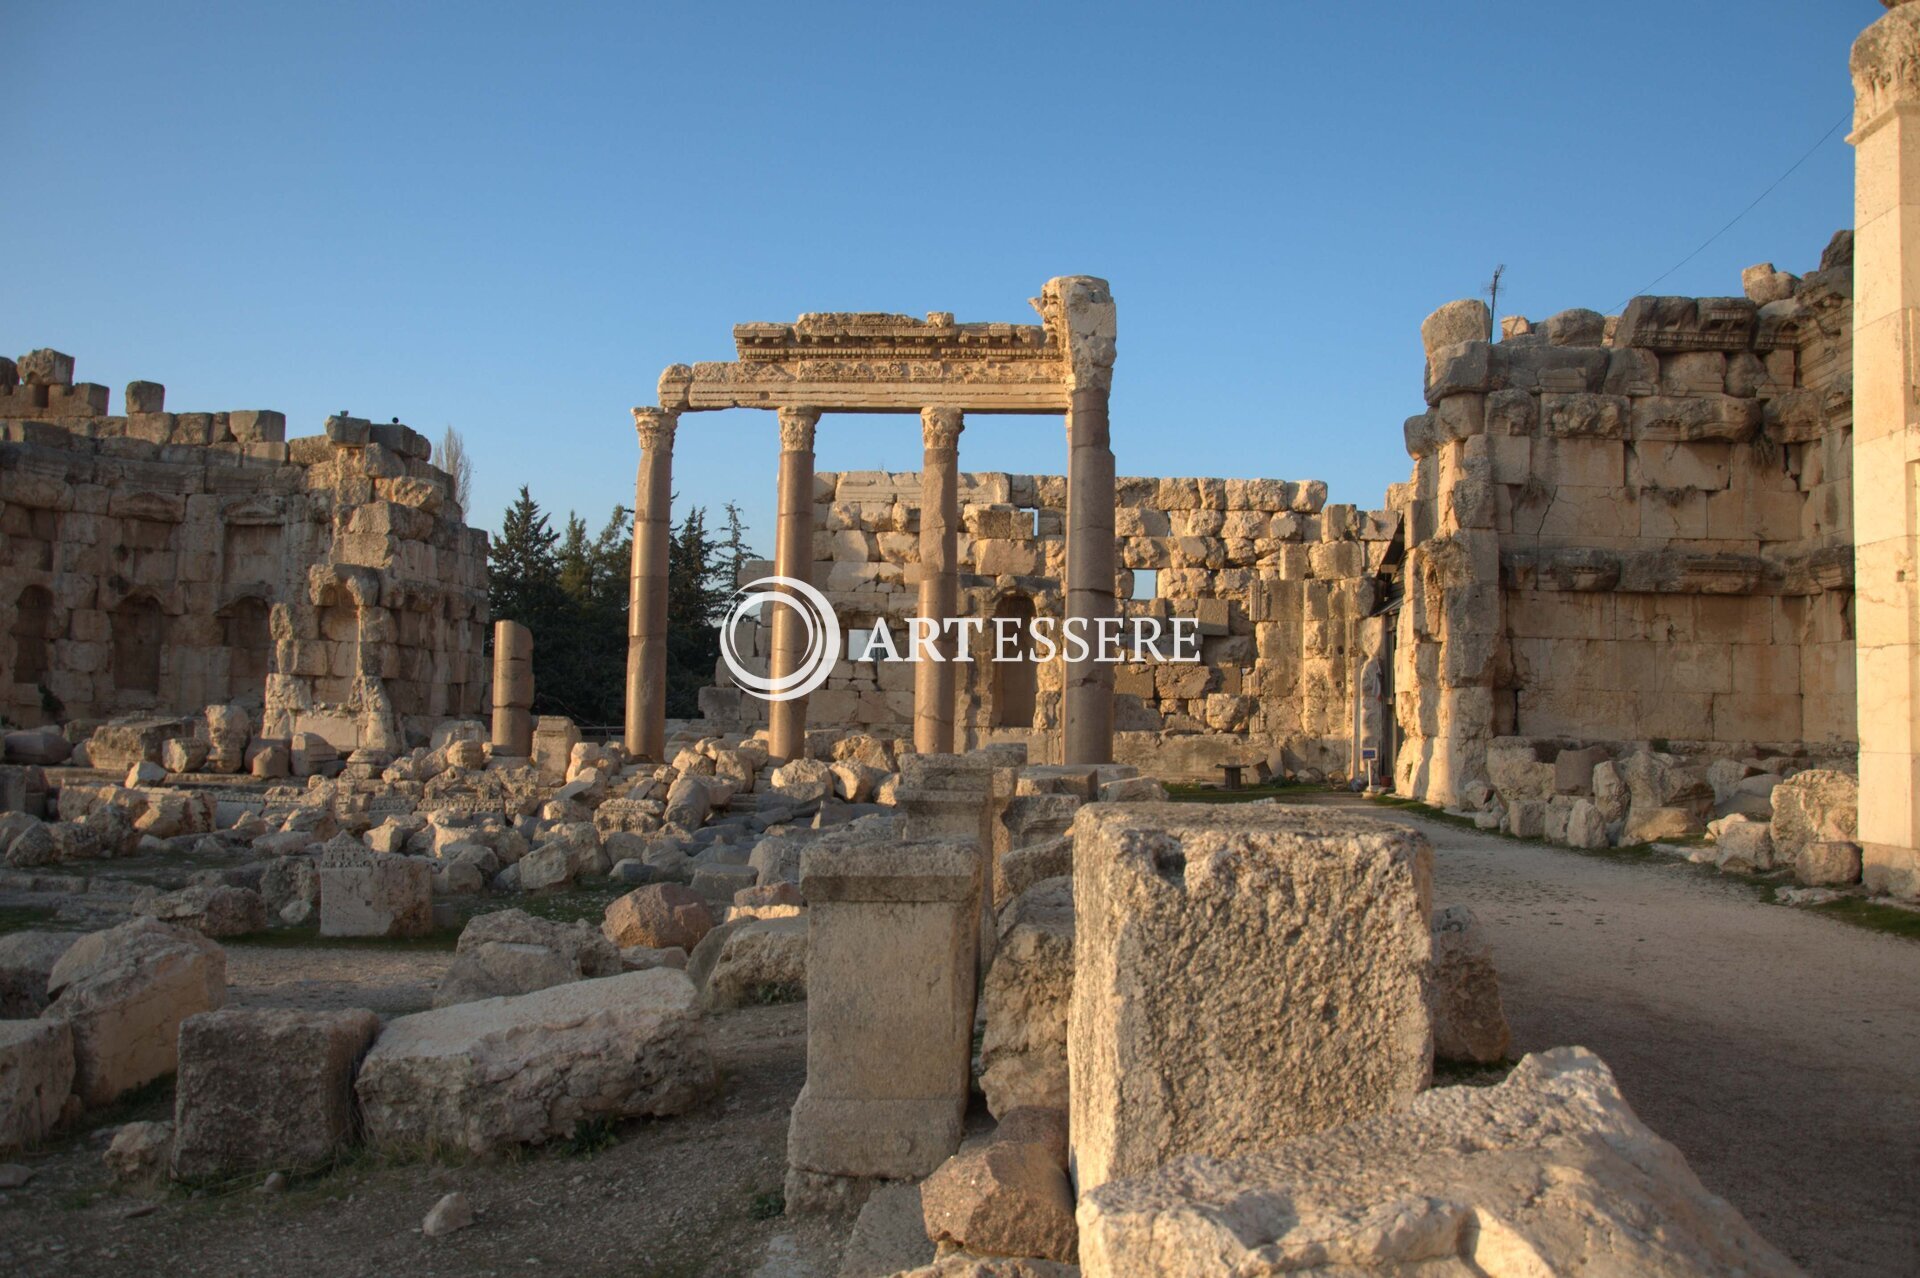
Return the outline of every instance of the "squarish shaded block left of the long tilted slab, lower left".
<path id="1" fill-rule="evenodd" d="M 380 1030 L 365 1009 L 205 1011 L 180 1025 L 173 1176 L 307 1171 L 353 1142 L 353 1067 Z"/>

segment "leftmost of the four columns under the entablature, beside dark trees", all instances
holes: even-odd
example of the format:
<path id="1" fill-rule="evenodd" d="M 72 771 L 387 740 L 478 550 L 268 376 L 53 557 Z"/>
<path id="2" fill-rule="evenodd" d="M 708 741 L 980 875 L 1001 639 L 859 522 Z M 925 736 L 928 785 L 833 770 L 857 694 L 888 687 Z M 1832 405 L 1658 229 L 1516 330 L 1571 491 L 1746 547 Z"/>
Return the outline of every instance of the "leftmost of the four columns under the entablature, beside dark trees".
<path id="1" fill-rule="evenodd" d="M 674 501 L 674 426 L 666 409 L 634 409 L 634 574 L 626 614 L 626 754 L 666 762 L 666 543 Z"/>

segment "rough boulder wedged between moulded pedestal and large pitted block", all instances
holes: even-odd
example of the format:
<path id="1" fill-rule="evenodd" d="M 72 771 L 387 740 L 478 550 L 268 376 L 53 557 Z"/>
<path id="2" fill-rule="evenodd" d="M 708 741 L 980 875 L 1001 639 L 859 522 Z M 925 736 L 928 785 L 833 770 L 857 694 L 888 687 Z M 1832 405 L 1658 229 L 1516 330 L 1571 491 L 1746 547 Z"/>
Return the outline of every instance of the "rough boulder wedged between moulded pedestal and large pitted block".
<path id="1" fill-rule="evenodd" d="M 1000 911 L 998 946 L 981 986 L 987 1032 L 979 1088 L 996 1119 L 1023 1107 L 1068 1107 L 1071 1000 L 1073 879 L 1046 879 Z"/>

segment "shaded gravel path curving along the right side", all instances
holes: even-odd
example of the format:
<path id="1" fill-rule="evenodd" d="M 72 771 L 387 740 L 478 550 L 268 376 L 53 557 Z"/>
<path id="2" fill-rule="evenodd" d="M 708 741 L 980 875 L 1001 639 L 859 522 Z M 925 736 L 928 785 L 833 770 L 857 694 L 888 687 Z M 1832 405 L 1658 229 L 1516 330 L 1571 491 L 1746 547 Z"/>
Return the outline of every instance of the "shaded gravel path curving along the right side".
<path id="1" fill-rule="evenodd" d="M 1582 1044 L 1812 1274 L 1920 1272 L 1920 944 L 1622 864 L 1371 808 L 1486 925 L 1513 1052 Z"/>

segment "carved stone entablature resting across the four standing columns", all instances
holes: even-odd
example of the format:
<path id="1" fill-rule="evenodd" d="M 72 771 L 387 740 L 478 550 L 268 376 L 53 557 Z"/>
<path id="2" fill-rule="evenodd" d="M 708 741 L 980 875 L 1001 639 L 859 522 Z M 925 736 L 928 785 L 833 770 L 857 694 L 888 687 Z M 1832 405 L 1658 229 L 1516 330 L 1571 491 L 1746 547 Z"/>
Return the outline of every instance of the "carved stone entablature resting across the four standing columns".
<path id="1" fill-rule="evenodd" d="M 1048 280 L 1046 297 L 1043 324 L 960 324 L 945 311 L 737 324 L 739 359 L 670 367 L 660 407 L 1066 413 L 1089 372 L 1112 368 L 1114 303 L 1104 280 L 1079 276 Z"/>

